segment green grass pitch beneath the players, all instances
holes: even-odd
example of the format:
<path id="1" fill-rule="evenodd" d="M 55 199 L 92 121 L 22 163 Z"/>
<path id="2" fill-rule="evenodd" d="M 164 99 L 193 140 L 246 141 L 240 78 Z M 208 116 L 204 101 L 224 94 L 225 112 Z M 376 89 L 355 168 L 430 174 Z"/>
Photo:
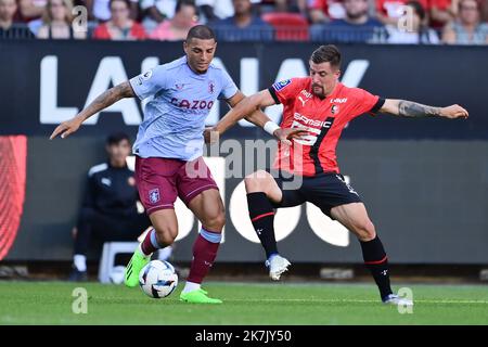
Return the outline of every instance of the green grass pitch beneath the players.
<path id="1" fill-rule="evenodd" d="M 75 287 L 88 293 L 75 314 Z M 373 284 L 210 282 L 223 305 L 152 299 L 139 288 L 99 283 L 0 282 L 4 324 L 488 324 L 488 286 L 401 285 L 413 291 L 412 313 L 378 301 Z M 398 290 L 399 285 L 396 286 Z"/>

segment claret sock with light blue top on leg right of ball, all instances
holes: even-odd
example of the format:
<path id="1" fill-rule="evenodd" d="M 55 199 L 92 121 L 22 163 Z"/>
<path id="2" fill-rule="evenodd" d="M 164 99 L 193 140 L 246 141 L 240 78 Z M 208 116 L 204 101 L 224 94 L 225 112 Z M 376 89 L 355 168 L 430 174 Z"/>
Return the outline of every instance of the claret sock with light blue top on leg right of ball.
<path id="1" fill-rule="evenodd" d="M 193 245 L 193 261 L 187 281 L 202 283 L 214 265 L 217 249 L 220 245 L 220 233 L 202 229 Z"/>

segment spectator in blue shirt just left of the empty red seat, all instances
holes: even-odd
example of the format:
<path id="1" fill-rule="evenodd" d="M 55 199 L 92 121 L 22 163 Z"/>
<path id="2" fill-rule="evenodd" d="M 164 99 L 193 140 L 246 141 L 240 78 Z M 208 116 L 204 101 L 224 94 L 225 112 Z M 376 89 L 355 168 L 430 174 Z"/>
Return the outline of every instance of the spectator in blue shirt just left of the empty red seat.
<path id="1" fill-rule="evenodd" d="M 232 0 L 234 16 L 215 22 L 218 40 L 222 41 L 272 41 L 273 28 L 253 13 L 251 0 Z"/>

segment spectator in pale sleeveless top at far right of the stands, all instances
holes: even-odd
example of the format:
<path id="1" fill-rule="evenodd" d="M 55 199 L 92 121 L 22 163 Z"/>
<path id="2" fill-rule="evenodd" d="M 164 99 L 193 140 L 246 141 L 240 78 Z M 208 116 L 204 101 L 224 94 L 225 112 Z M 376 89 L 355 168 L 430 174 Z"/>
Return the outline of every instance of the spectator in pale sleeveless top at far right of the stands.
<path id="1" fill-rule="evenodd" d="M 442 33 L 442 41 L 450 44 L 487 44 L 488 24 L 481 23 L 476 0 L 460 0 L 458 16 Z"/>

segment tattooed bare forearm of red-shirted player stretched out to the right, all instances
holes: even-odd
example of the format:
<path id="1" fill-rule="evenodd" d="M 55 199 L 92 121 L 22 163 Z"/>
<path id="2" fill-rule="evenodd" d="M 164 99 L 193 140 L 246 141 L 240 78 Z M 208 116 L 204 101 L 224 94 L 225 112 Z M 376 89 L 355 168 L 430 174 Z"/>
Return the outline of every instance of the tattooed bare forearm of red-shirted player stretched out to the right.
<path id="1" fill-rule="evenodd" d="M 407 100 L 386 99 L 381 113 L 389 113 L 402 117 L 445 117 L 445 118 L 467 118 L 468 113 L 458 104 L 447 107 L 434 107 L 423 105 Z"/>

